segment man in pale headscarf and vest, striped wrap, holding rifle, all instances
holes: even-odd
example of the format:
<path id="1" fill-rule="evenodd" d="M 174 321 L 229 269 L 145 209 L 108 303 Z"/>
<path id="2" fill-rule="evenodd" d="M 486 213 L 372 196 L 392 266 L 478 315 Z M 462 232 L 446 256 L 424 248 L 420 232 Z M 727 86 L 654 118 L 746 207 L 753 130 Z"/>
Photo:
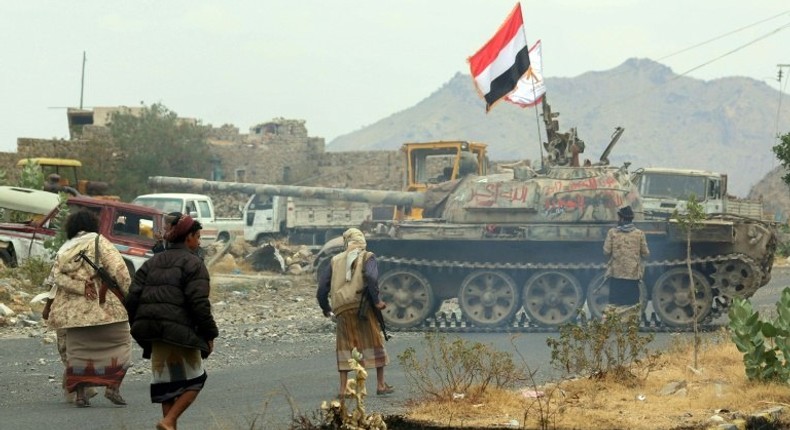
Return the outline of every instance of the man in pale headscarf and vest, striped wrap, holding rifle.
<path id="1" fill-rule="evenodd" d="M 362 353 L 362 366 L 376 368 L 376 394 L 394 391 L 384 381 L 384 366 L 389 356 L 384 348 L 388 338 L 381 310 L 387 305 L 379 298 L 378 265 L 372 252 L 365 250 L 365 235 L 356 228 L 343 233 L 345 250 L 332 257 L 332 263 L 319 274 L 316 298 L 324 316 L 335 319 L 337 370 L 340 396 L 348 394 L 346 382 L 351 366 L 348 360 L 356 348 Z"/>

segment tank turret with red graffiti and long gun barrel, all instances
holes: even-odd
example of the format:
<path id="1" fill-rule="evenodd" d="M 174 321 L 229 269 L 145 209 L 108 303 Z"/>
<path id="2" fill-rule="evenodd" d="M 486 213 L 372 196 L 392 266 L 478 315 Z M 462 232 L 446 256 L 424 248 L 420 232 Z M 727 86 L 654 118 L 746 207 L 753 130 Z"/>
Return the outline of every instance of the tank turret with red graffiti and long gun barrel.
<path id="1" fill-rule="evenodd" d="M 154 188 L 193 192 L 242 192 L 323 200 L 424 208 L 423 217 L 457 224 L 614 222 L 617 209 L 630 205 L 641 214 L 641 201 L 625 168 L 554 167 L 538 175 L 514 171 L 467 175 L 432 185 L 427 191 L 334 189 L 293 185 L 217 182 L 154 176 Z"/>

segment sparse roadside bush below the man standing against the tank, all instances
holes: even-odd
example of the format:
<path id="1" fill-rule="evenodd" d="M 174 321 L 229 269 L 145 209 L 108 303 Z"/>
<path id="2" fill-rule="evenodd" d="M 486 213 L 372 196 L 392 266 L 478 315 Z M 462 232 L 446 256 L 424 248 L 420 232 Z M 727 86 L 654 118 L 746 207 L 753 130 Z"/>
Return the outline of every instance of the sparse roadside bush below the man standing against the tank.
<path id="1" fill-rule="evenodd" d="M 632 366 L 642 357 L 654 359 L 647 345 L 652 333 L 640 335 L 639 315 L 621 315 L 607 309 L 601 320 L 582 320 L 582 324 L 565 324 L 560 327 L 559 339 L 547 338 L 551 348 L 551 364 L 570 375 L 611 377 L 630 381 Z"/>

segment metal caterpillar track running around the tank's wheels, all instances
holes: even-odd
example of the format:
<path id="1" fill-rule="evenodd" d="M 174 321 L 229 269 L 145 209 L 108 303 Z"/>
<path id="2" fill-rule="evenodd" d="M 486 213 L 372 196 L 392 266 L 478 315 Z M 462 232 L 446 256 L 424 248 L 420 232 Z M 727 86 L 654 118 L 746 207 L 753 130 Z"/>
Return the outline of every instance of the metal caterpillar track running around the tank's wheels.
<path id="1" fill-rule="evenodd" d="M 556 264 L 535 264 L 535 263 L 496 263 L 496 262 L 475 262 L 475 261 L 449 261 L 449 260 L 428 260 L 428 259 L 412 259 L 412 258 L 396 258 L 387 257 L 384 255 L 376 256 L 376 259 L 381 263 L 387 263 L 394 268 L 407 268 L 407 267 L 428 267 L 436 271 L 451 272 L 457 269 L 475 269 L 475 270 L 590 270 L 600 271 L 606 269 L 606 263 L 556 263 Z M 722 271 L 723 265 L 731 262 L 742 262 L 748 266 L 751 271 L 751 281 L 757 283 L 763 277 L 763 271 L 760 265 L 745 254 L 719 254 L 707 257 L 697 257 L 691 260 L 692 265 L 700 266 L 705 264 L 712 264 L 714 272 L 708 275 L 711 279 L 711 289 L 713 290 L 713 303 L 711 311 L 704 320 L 698 324 L 698 329 L 701 331 L 711 331 L 720 328 L 720 325 L 713 324 L 713 321 L 724 315 L 727 312 L 729 301 L 732 297 L 740 295 L 731 285 L 724 285 L 723 280 L 726 277 L 716 276 L 716 273 Z M 686 267 L 686 259 L 675 260 L 652 260 L 645 262 L 645 270 L 655 270 L 665 268 L 668 270 L 672 267 Z M 751 286 L 753 290 L 757 287 Z M 750 296 L 751 294 L 749 294 Z M 447 332 L 447 333 L 548 333 L 558 331 L 557 327 L 544 327 L 532 323 L 529 318 L 520 310 L 516 313 L 513 321 L 508 324 L 503 324 L 497 327 L 477 327 L 472 322 L 468 321 L 461 315 L 458 316 L 455 312 L 445 313 L 440 312 L 435 317 L 425 319 L 421 324 L 415 325 L 410 328 L 388 328 L 388 331 L 393 332 Z M 663 324 L 656 316 L 655 312 L 650 312 L 646 315 L 644 312 L 641 316 L 642 324 L 640 331 L 645 332 L 683 332 L 691 331 L 692 327 L 671 327 Z M 581 321 L 583 323 L 583 321 Z"/>

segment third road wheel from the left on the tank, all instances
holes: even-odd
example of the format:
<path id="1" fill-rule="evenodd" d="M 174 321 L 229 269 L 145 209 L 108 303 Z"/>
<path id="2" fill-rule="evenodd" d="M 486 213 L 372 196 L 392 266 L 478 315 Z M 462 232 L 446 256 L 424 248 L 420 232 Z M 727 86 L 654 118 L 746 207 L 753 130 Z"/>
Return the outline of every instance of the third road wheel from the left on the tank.
<path id="1" fill-rule="evenodd" d="M 576 317 L 584 304 L 581 284 L 564 271 L 538 272 L 524 285 L 524 311 L 541 326 L 558 326 Z"/>

